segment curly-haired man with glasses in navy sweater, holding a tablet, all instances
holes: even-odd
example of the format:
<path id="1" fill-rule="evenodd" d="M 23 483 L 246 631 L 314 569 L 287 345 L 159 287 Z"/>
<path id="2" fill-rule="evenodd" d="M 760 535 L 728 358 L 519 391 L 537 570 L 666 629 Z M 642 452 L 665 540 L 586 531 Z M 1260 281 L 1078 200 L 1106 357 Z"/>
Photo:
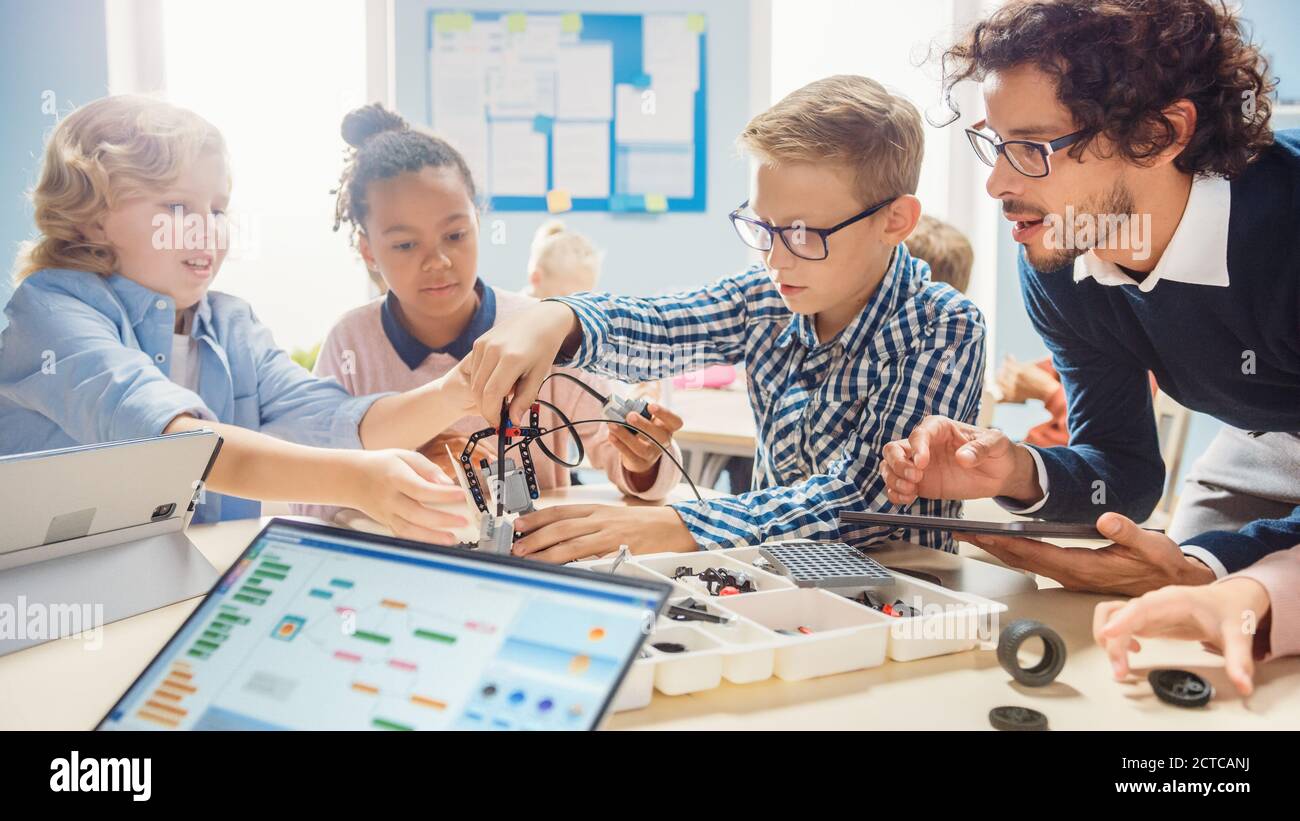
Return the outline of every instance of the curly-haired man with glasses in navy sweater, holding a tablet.
<path id="1" fill-rule="evenodd" d="M 1300 135 L 1208 0 L 1013 0 L 949 49 L 967 129 L 1020 244 L 1026 309 L 1069 398 L 1069 447 L 936 416 L 885 448 L 889 499 L 994 496 L 1114 543 L 970 540 L 1070 588 L 1197 585 L 1300 543 Z M 1147 372 L 1228 427 L 1169 534 Z M 965 537 L 963 537 L 965 538 Z"/>

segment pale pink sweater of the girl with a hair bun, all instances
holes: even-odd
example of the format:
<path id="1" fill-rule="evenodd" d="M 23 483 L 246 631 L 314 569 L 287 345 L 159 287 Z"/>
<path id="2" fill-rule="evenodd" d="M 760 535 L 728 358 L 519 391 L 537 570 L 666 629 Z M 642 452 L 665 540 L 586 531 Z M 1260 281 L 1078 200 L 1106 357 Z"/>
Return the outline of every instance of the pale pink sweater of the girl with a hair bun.
<path id="1" fill-rule="evenodd" d="M 537 301 L 530 296 L 500 288 L 493 288 L 493 294 L 497 300 L 497 322 L 524 310 Z M 343 314 L 334 327 L 330 329 L 329 335 L 325 336 L 325 342 L 321 344 L 320 356 L 316 359 L 317 375 L 333 377 L 347 388 L 347 392 L 360 396 L 417 388 L 456 366 L 458 360 L 450 353 L 434 352 L 419 368 L 408 368 L 384 333 L 381 323 L 382 305 L 384 297 L 381 296 Z M 610 395 L 610 383 L 601 377 L 571 369 L 556 370 L 573 374 L 594 387 L 599 394 Z M 572 422 L 602 418 L 601 403 L 567 379 L 547 382 L 542 388 L 540 399 L 545 399 L 563 410 L 564 416 Z M 519 422 L 520 420 L 515 421 Z M 526 423 L 526 420 L 523 421 Z M 541 412 L 542 427 L 551 427 L 558 423 L 559 421 L 555 414 L 543 405 Z M 455 472 L 447 459 L 447 447 L 451 448 L 452 455 L 459 457 L 471 434 L 494 425 L 495 422 L 489 425 L 488 420 L 481 416 L 467 416 L 419 449 L 446 470 L 447 475 L 454 477 Z M 610 477 L 610 481 L 624 494 L 658 501 L 664 499 L 668 491 L 681 481 L 681 473 L 677 468 L 671 461 L 660 459 L 659 474 L 655 477 L 654 485 L 646 491 L 637 492 L 632 490 L 628 473 L 620 461 L 619 451 L 610 442 L 608 427 L 604 425 L 580 425 L 576 430 L 582 438 L 588 462 L 593 468 L 603 470 Z M 545 439 L 546 446 L 562 459 L 572 459 L 572 431 L 568 430 L 555 433 Z M 476 465 L 480 456 L 495 456 L 497 438 L 488 436 L 482 439 L 477 448 L 477 455 L 473 460 Z M 537 468 L 537 486 L 541 490 L 568 487 L 568 468 L 552 462 L 536 446 L 530 449 L 533 453 L 533 465 Z M 671 449 L 673 457 L 680 461 L 681 451 L 676 443 L 673 443 Z M 315 516 L 325 521 L 333 521 L 339 508 L 295 504 L 292 505 L 292 511 L 300 516 Z"/>

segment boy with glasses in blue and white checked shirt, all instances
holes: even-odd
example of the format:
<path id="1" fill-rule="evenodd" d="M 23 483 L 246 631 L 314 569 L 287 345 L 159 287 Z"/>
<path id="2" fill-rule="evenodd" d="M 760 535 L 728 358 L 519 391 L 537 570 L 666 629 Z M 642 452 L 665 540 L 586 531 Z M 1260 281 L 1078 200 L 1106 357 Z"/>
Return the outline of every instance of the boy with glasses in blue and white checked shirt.
<path id="1" fill-rule="evenodd" d="M 755 117 L 740 142 L 755 161 L 750 199 L 731 221 L 762 265 L 685 294 L 545 301 L 480 338 L 471 370 L 481 408 L 512 395 L 519 414 L 558 359 L 630 382 L 744 364 L 758 427 L 753 488 L 666 508 L 547 508 L 516 521 L 526 533 L 517 553 L 571 561 L 620 544 L 881 538 L 841 533 L 837 516 L 890 507 L 885 443 L 927 414 L 974 421 L 983 318 L 902 244 L 920 216 L 916 109 L 864 77 L 831 77 Z M 909 535 L 952 549 L 942 534 Z"/>

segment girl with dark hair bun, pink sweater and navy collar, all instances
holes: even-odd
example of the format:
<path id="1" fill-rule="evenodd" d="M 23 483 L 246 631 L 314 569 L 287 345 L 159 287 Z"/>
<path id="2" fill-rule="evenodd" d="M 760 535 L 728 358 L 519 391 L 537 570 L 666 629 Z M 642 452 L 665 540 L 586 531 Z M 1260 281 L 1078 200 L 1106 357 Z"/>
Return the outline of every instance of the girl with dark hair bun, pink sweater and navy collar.
<path id="1" fill-rule="evenodd" d="M 350 226 L 361 259 L 372 274 L 382 277 L 387 294 L 338 321 L 321 346 L 316 373 L 337 378 L 358 395 L 442 378 L 456 369 L 480 335 L 536 301 L 494 288 L 478 277 L 477 191 L 455 148 L 411 129 L 378 104 L 347 114 L 342 133 L 354 152 L 339 182 L 335 229 Z M 610 395 L 603 379 L 568 375 Z M 573 422 L 602 417 L 601 403 L 566 378 L 550 381 L 540 399 Z M 681 420 L 655 404 L 650 410 L 651 421 L 629 416 L 628 422 L 680 459 L 672 433 L 681 427 Z M 448 420 L 420 452 L 451 469 L 448 448 L 459 457 L 471 434 L 498 422 L 473 413 Z M 543 405 L 541 425 L 558 423 Z M 577 434 L 592 465 L 625 494 L 663 499 L 681 479 L 658 446 L 623 426 L 584 425 Z M 543 440 L 567 459 L 572 438 L 572 431 L 558 431 Z M 495 442 L 494 436 L 480 442 L 480 453 L 494 457 Z M 473 462 L 478 464 L 478 455 Z M 536 451 L 533 464 L 541 488 L 569 485 L 567 468 Z M 338 513 L 303 507 L 296 512 L 325 520 Z"/>

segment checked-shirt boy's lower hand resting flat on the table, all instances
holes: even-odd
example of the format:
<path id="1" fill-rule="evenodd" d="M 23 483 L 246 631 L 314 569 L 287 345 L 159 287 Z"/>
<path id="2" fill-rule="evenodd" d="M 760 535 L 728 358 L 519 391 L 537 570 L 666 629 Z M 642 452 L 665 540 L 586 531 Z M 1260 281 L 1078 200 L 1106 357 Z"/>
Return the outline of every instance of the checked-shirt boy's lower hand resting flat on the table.
<path id="1" fill-rule="evenodd" d="M 618 508 L 602 504 L 569 504 L 543 508 L 515 520 L 514 553 L 564 564 L 601 556 L 627 544 L 633 553 L 699 549 L 681 517 L 672 508 Z"/>

